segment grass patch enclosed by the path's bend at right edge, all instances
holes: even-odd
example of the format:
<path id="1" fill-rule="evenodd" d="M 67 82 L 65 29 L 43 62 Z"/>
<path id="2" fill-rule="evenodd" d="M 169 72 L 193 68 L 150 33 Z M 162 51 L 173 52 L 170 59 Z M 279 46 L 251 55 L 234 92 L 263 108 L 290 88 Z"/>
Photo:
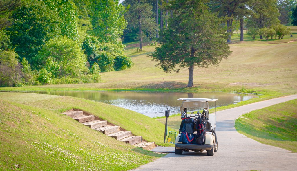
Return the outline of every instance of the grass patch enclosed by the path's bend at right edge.
<path id="1" fill-rule="evenodd" d="M 297 152 L 297 99 L 241 115 L 236 130 L 267 145 Z"/>

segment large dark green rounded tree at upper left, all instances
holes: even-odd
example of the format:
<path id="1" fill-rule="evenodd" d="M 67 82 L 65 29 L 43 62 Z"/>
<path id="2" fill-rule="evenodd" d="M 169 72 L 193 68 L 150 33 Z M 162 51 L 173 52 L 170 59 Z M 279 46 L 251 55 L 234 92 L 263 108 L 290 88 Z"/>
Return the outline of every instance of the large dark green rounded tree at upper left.
<path id="1" fill-rule="evenodd" d="M 26 1 L 13 11 L 11 20 L 12 25 L 7 28 L 10 41 L 20 58 L 30 64 L 46 41 L 61 34 L 59 15 L 44 1 Z"/>

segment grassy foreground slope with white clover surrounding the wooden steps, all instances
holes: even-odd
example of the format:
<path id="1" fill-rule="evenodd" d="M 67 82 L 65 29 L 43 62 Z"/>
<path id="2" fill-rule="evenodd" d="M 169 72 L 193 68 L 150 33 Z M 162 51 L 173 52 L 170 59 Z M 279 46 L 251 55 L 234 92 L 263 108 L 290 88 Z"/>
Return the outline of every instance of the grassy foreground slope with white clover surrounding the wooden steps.
<path id="1" fill-rule="evenodd" d="M 164 125 L 127 109 L 78 98 L 0 93 L 0 170 L 129 170 L 162 155 L 119 142 L 61 112 L 78 108 L 148 141 Z M 127 118 L 129 123 L 127 123 Z"/>

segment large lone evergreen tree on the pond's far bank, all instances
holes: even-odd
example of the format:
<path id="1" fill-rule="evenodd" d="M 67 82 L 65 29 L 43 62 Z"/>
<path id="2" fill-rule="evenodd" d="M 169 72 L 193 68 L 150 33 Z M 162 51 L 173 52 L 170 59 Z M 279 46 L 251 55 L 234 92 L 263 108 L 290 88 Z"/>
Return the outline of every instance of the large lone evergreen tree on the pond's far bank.
<path id="1" fill-rule="evenodd" d="M 226 44 L 222 20 L 208 11 L 204 0 L 173 0 L 165 6 L 173 10 L 173 18 L 168 19 L 160 39 L 160 47 L 148 56 L 158 62 L 165 72 L 178 72 L 188 67 L 189 81 L 187 87 L 194 86 L 194 67 L 217 65 L 226 59 L 231 51 Z"/>

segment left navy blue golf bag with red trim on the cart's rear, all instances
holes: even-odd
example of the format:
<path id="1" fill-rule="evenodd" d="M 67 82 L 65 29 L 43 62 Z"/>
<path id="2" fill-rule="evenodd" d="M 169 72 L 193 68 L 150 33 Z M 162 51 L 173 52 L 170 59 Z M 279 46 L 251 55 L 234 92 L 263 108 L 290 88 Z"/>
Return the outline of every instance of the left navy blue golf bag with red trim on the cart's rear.
<path id="1" fill-rule="evenodd" d="M 179 137 L 178 142 L 182 142 L 183 144 L 192 144 L 195 142 L 194 133 L 194 121 L 190 117 L 186 117 L 182 119 L 181 126 L 179 127 L 179 131 L 181 132 L 181 136 Z"/>

